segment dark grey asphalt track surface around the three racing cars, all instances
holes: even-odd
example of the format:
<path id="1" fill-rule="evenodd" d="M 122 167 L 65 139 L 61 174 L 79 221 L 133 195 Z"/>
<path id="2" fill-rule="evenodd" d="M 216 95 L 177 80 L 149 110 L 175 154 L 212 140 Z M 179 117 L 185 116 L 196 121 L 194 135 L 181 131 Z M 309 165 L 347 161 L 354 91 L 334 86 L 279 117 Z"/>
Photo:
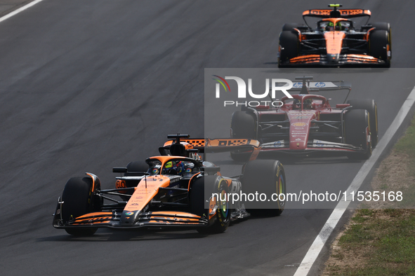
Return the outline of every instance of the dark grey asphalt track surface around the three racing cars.
<path id="1" fill-rule="evenodd" d="M 211 236 L 98 230 L 71 237 L 51 226 L 51 214 L 70 177 L 93 172 L 112 188 L 112 167 L 156 155 L 166 134 L 203 137 L 204 68 L 278 73 L 284 22 L 301 22 L 303 10 L 326 5 L 45 0 L 1 22 L 1 274 L 293 275 L 330 209 L 287 209 Z M 368 8 L 372 22 L 390 22 L 392 67 L 414 67 L 413 1 L 343 1 L 343 7 Z M 411 70 L 402 74 L 393 90 L 371 76 L 369 89 L 353 91 L 378 103 L 380 135 L 415 85 Z M 323 158 L 285 167 L 290 185 L 340 188 L 361 166 Z"/>

